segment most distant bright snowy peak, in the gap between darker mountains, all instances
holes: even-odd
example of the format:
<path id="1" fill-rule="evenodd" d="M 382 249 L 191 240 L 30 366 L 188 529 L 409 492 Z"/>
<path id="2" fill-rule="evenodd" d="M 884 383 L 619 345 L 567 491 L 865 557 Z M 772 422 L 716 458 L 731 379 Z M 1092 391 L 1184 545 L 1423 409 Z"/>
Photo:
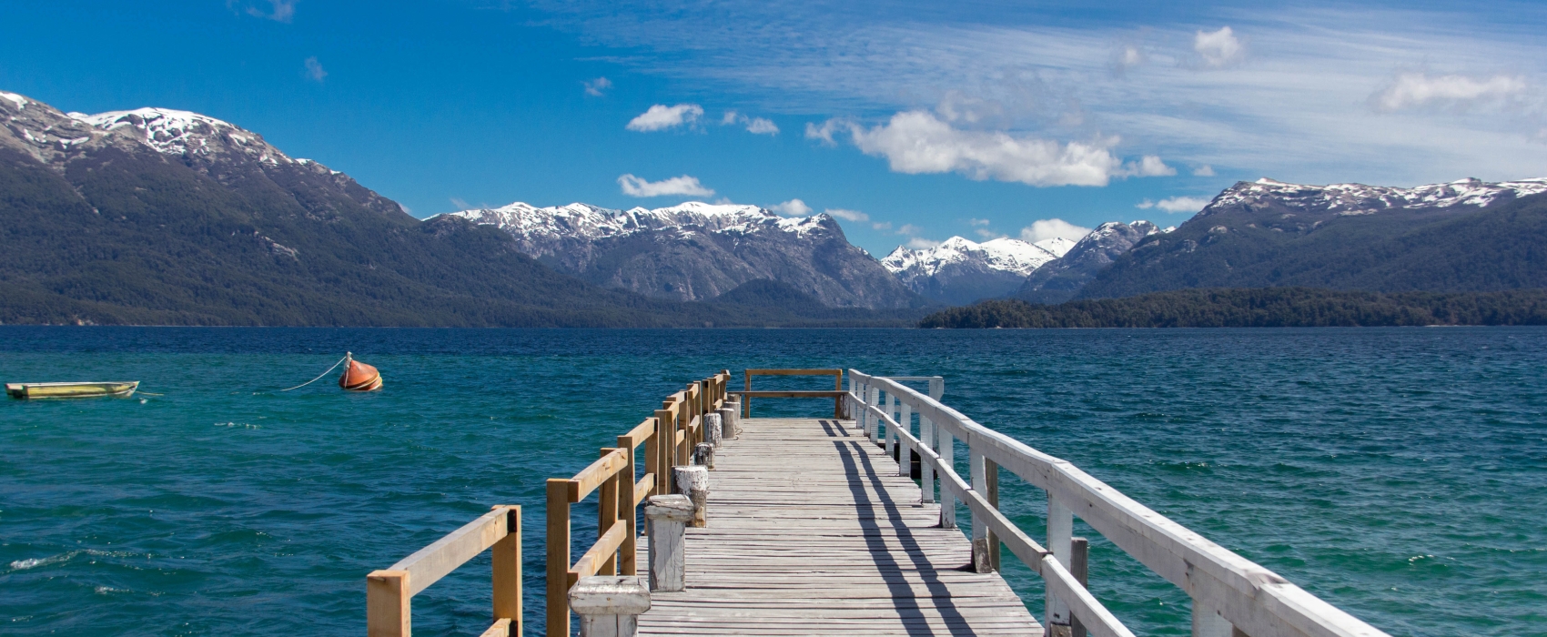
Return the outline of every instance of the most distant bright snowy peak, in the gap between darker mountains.
<path id="1" fill-rule="evenodd" d="M 1027 275 L 1063 257 L 1074 244 L 1064 238 L 1033 244 L 1013 238 L 976 243 L 951 237 L 934 247 L 897 246 L 880 264 L 927 298 L 965 305 L 1013 292 Z"/>

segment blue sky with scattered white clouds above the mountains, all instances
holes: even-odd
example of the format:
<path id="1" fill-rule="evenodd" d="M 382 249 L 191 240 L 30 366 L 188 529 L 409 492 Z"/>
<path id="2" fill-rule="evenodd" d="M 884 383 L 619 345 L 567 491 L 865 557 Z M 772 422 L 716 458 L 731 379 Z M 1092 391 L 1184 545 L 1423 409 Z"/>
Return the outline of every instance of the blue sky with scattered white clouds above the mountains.
<path id="1" fill-rule="evenodd" d="M 1256 5 L 6 3 L 0 90 L 210 114 L 416 216 L 732 201 L 876 254 L 1547 176 L 1542 5 Z"/>

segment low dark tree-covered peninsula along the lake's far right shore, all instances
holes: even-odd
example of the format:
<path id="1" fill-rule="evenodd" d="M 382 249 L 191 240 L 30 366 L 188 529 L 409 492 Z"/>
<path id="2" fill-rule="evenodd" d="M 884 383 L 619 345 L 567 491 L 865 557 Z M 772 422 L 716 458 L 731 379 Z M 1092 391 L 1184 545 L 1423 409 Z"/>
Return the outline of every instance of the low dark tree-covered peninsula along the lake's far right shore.
<path id="1" fill-rule="evenodd" d="M 920 328 L 1374 328 L 1547 325 L 1547 291 L 1344 292 L 1207 288 L 1033 305 L 990 300 L 930 314 Z"/>

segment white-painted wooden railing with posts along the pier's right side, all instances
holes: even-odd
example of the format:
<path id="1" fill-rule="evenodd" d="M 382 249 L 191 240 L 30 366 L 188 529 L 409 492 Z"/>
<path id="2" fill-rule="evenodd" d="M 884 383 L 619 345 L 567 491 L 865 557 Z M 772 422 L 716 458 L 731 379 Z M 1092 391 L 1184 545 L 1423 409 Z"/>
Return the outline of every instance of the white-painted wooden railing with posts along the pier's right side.
<path id="1" fill-rule="evenodd" d="M 1071 535 L 1078 515 L 1112 544 L 1191 595 L 1194 635 L 1385 635 L 1278 574 L 1118 493 L 1067 461 L 945 407 L 939 402 L 942 393 L 936 391 L 944 387 L 937 377 L 930 382 L 930 396 L 899 382 L 924 379 L 930 377 L 880 377 L 849 370 L 848 413 L 888 453 L 902 445 L 920 456 L 925 502 L 933 501 L 934 481 L 939 479 L 942 527 L 956 526 L 954 501 L 967 504 L 973 516 L 973 564 L 979 572 L 993 566 L 992 544 L 1004 543 L 1043 577 L 1049 634 L 1067 635 L 1072 614 L 1077 625 L 1094 635 L 1132 635 L 1069 572 Z M 919 416 L 917 434 L 913 433 L 914 413 Z M 972 484 L 953 468 L 956 439 L 967 442 Z M 911 473 L 910 458 L 905 453 L 897 456 L 900 470 Z M 990 482 L 998 467 L 1047 492 L 1047 547 L 1015 527 L 990 502 Z"/>

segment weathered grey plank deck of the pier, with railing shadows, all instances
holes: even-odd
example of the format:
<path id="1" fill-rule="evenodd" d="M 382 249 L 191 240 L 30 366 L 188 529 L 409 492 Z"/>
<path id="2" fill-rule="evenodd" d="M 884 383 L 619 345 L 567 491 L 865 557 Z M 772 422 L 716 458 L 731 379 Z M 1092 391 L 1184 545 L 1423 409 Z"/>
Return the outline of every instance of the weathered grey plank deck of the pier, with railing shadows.
<path id="1" fill-rule="evenodd" d="M 653 594 L 639 634 L 1043 634 L 852 421 L 744 419 L 715 465 L 687 591 Z"/>

